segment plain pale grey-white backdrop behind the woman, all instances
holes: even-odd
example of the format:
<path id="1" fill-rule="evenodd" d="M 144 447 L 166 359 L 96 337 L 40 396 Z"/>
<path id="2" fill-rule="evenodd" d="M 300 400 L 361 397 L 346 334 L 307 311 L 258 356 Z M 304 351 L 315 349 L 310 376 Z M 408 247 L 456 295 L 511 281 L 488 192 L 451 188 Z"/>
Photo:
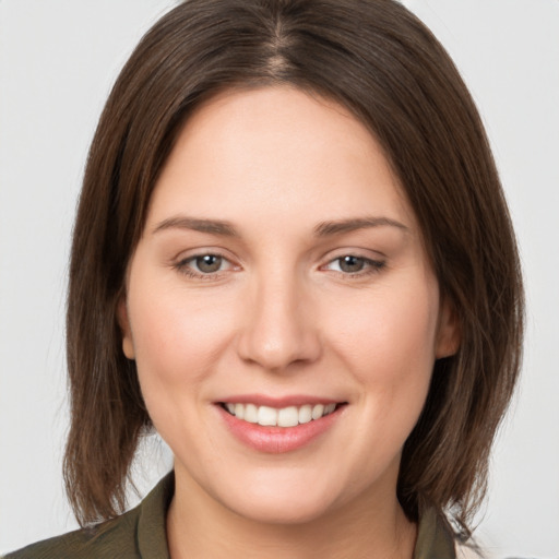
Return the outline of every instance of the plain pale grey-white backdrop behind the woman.
<path id="1" fill-rule="evenodd" d="M 64 500 L 67 261 L 96 120 L 171 0 L 0 0 L 0 552 L 76 526 Z M 528 324 L 477 534 L 559 558 L 559 1 L 408 0 L 462 71 L 520 240 Z M 170 467 L 156 438 L 142 492 Z M 133 502 L 133 501 L 132 501 Z"/>

